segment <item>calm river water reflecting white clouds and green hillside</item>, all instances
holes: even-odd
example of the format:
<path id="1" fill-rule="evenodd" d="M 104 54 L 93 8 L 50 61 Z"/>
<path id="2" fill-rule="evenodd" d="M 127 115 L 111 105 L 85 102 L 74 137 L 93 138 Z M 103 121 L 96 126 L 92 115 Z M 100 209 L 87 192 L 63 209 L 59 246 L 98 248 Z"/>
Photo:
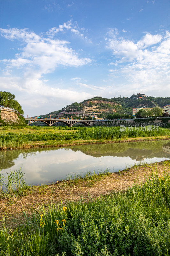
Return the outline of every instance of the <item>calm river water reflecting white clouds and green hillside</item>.
<path id="1" fill-rule="evenodd" d="M 111 172 L 139 161 L 170 159 L 167 140 L 114 144 L 80 145 L 63 148 L 39 148 L 0 152 L 1 172 L 18 170 L 22 166 L 28 184 L 40 184 L 65 179 L 69 173 L 104 170 Z"/>

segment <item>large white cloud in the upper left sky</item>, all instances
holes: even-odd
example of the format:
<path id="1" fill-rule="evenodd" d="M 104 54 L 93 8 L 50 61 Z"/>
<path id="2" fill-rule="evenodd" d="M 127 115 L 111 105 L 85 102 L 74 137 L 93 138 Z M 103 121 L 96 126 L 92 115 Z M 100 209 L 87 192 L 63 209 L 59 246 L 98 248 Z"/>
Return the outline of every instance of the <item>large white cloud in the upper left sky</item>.
<path id="1" fill-rule="evenodd" d="M 91 62 L 89 58 L 78 58 L 78 54 L 68 47 L 70 43 L 64 40 L 43 38 L 27 29 L 0 29 L 0 32 L 6 39 L 22 40 L 26 44 L 15 59 L 3 60 L 11 67 L 29 65 L 33 69 L 38 68 L 41 74 L 46 74 L 58 65 L 78 67 Z"/>

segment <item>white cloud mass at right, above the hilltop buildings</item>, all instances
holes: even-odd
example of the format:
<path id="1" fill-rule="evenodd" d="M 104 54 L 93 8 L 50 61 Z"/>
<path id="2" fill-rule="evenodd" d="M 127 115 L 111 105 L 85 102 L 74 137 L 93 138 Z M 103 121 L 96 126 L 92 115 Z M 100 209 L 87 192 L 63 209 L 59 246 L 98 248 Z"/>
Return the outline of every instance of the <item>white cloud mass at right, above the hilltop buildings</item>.
<path id="1" fill-rule="evenodd" d="M 124 78 L 129 89 L 143 87 L 152 92 L 154 88 L 157 95 L 162 95 L 162 88 L 170 89 L 169 31 L 164 35 L 146 33 L 138 42 L 114 35 L 107 40 L 107 48 L 115 59 L 110 64 L 117 64 L 109 70 L 111 76 Z"/>

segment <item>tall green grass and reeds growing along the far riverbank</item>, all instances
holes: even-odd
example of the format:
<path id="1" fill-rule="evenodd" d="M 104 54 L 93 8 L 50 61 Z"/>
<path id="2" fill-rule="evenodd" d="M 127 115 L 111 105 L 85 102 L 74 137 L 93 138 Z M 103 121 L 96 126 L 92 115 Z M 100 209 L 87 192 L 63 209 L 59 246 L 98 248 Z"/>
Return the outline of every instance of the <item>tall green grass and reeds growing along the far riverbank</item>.
<path id="1" fill-rule="evenodd" d="M 19 128 L 21 129 L 21 128 Z M 128 130 L 121 132 L 119 127 L 75 127 L 60 130 L 59 128 L 47 127 L 33 127 L 23 128 L 26 132 L 6 132 L 1 131 L 0 134 L 0 148 L 19 148 L 32 142 L 39 141 L 64 141 L 64 140 L 114 140 L 125 138 L 138 137 L 155 137 L 170 135 L 170 131 L 166 128 L 158 127 L 158 131 L 141 129 L 133 131 Z"/>

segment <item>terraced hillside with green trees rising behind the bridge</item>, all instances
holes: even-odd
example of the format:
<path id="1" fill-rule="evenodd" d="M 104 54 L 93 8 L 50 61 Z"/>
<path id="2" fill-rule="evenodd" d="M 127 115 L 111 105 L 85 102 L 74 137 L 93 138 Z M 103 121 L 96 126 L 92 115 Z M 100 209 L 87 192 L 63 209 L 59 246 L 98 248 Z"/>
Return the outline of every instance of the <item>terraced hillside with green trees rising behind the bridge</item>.
<path id="1" fill-rule="evenodd" d="M 134 96 L 134 97 L 133 97 Z M 80 103 L 74 102 L 71 105 L 67 105 L 61 110 L 51 112 L 46 115 L 41 115 L 41 117 L 56 117 L 58 113 L 61 112 L 81 112 L 80 115 L 90 116 L 97 115 L 98 117 L 106 118 L 108 114 L 124 114 L 131 116 L 132 108 L 136 107 L 154 107 L 160 106 L 163 108 L 166 104 L 170 103 L 170 97 L 153 97 L 145 96 L 143 98 L 137 98 L 136 95 L 128 97 L 114 97 L 114 98 L 102 98 L 100 96 L 93 97 L 91 99 L 84 100 Z M 71 116 L 69 114 L 64 114 L 64 116 Z"/>

